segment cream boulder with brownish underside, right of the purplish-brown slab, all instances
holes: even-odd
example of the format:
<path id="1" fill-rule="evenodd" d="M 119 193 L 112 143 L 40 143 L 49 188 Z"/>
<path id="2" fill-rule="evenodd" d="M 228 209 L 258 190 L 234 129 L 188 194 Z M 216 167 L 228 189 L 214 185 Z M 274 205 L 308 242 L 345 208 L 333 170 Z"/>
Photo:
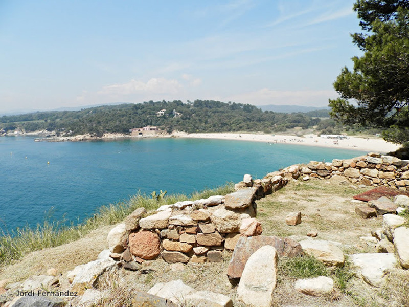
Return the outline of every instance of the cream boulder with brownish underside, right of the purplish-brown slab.
<path id="1" fill-rule="evenodd" d="M 330 267 L 344 265 L 344 254 L 334 244 L 324 240 L 302 240 L 299 242 L 303 252 L 312 255 Z"/>

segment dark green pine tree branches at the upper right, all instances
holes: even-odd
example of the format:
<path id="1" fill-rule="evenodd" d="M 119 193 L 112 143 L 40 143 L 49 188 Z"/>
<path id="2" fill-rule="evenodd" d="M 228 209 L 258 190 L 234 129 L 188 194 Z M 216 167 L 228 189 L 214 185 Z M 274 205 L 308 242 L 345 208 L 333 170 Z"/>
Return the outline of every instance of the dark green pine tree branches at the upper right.
<path id="1" fill-rule="evenodd" d="M 340 98 L 330 100 L 331 117 L 351 125 L 384 130 L 385 140 L 409 141 L 409 4 L 407 1 L 358 0 L 361 27 L 353 41 L 365 53 L 353 57 L 334 82 Z M 357 105 L 353 105 L 355 100 Z"/>

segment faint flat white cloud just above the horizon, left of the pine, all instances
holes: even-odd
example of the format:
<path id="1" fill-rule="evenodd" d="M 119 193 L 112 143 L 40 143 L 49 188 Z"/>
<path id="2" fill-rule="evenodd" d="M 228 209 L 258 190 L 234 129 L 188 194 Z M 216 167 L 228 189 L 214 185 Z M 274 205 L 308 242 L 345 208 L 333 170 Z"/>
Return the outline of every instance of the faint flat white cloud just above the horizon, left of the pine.
<path id="1" fill-rule="evenodd" d="M 335 97 L 337 97 L 337 93 L 332 90 L 275 91 L 264 88 L 255 92 L 247 92 L 225 97 L 223 101 L 250 103 L 254 105 L 296 104 L 308 106 L 327 106 L 328 98 Z"/>

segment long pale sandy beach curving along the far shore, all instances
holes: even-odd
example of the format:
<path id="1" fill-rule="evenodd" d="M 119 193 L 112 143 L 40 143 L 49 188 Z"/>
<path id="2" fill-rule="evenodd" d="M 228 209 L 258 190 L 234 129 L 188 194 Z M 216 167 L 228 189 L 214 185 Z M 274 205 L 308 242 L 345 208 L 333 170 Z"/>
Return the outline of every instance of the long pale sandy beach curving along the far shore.
<path id="1" fill-rule="evenodd" d="M 358 138 L 347 137 L 347 139 L 334 140 L 318 137 L 317 135 L 305 135 L 304 137 L 290 135 L 267 135 L 267 134 L 247 134 L 247 133 L 184 133 L 174 132 L 172 134 L 180 138 L 198 138 L 198 139 L 220 139 L 220 140 L 238 140 L 238 141 L 254 141 L 267 142 L 272 144 L 292 144 L 306 146 L 321 146 L 343 149 L 354 149 L 362 151 L 375 151 L 379 153 L 387 153 L 395 151 L 400 146 L 389 143 L 382 138 Z"/>

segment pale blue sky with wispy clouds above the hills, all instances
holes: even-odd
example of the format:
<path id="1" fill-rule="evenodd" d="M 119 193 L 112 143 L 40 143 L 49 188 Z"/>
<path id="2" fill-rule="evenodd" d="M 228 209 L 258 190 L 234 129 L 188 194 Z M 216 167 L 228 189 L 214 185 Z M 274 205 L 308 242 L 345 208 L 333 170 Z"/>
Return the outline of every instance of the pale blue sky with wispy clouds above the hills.
<path id="1" fill-rule="evenodd" d="M 0 112 L 213 99 L 327 106 L 355 0 L 0 0 Z"/>

